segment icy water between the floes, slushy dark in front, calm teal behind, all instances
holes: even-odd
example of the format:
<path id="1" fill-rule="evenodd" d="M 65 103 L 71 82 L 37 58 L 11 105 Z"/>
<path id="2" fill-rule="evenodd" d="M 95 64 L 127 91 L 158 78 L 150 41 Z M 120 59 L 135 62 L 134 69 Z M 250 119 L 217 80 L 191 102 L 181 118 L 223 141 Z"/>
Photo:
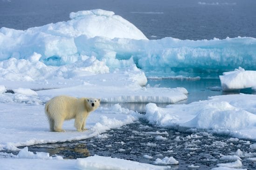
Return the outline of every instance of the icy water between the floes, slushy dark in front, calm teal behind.
<path id="1" fill-rule="evenodd" d="M 185 87 L 189 94 L 188 99 L 179 103 L 191 103 L 205 100 L 208 96 L 234 94 L 237 92 L 222 92 L 219 79 L 201 80 L 172 80 L 162 79 L 148 81 L 150 86 Z M 252 93 L 250 90 L 242 91 Z M 113 104 L 102 104 L 110 107 Z M 140 112 L 145 111 L 146 104 L 120 104 L 122 107 Z M 159 104 L 165 107 L 167 104 Z M 217 167 L 217 163 L 227 163 L 221 155 L 237 155 L 241 150 L 243 166 L 248 170 L 255 170 L 256 163 L 247 160 L 247 157 L 256 157 L 256 153 L 249 153 L 250 144 L 256 141 L 239 140 L 227 136 L 218 136 L 206 132 L 181 132 L 175 129 L 159 128 L 148 124 L 141 119 L 134 124 L 128 124 L 118 129 L 112 129 L 104 134 L 80 141 L 40 144 L 29 146 L 30 151 L 48 152 L 50 155 L 61 155 L 65 159 L 76 159 L 93 155 L 118 157 L 151 163 L 157 158 L 174 157 L 179 165 L 171 165 L 172 169 L 187 170 L 191 164 L 200 166 L 200 170 L 209 170 Z M 145 158 L 148 155 L 152 158 Z M 238 154 L 239 155 L 239 154 Z M 232 161 L 228 161 L 232 162 Z"/>

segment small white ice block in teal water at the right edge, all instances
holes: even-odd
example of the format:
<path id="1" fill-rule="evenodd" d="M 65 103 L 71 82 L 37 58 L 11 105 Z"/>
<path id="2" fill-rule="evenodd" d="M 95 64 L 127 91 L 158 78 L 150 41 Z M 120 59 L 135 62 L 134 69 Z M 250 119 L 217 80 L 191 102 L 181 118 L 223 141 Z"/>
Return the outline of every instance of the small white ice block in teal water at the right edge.
<path id="1" fill-rule="evenodd" d="M 256 87 L 256 71 L 245 71 L 241 67 L 232 72 L 223 72 L 220 79 L 223 91 Z"/>

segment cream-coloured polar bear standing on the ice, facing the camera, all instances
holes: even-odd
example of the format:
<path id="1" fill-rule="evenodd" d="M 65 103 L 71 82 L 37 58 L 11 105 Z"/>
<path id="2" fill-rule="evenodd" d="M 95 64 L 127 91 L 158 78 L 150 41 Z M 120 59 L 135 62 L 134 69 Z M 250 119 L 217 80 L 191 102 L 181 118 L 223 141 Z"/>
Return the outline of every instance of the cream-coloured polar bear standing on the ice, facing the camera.
<path id="1" fill-rule="evenodd" d="M 84 128 L 86 119 L 91 111 L 95 111 L 100 105 L 97 98 L 74 98 L 69 96 L 57 96 L 45 104 L 45 114 L 48 117 L 51 131 L 65 132 L 62 130 L 64 120 L 75 118 L 77 131 L 86 131 Z"/>

